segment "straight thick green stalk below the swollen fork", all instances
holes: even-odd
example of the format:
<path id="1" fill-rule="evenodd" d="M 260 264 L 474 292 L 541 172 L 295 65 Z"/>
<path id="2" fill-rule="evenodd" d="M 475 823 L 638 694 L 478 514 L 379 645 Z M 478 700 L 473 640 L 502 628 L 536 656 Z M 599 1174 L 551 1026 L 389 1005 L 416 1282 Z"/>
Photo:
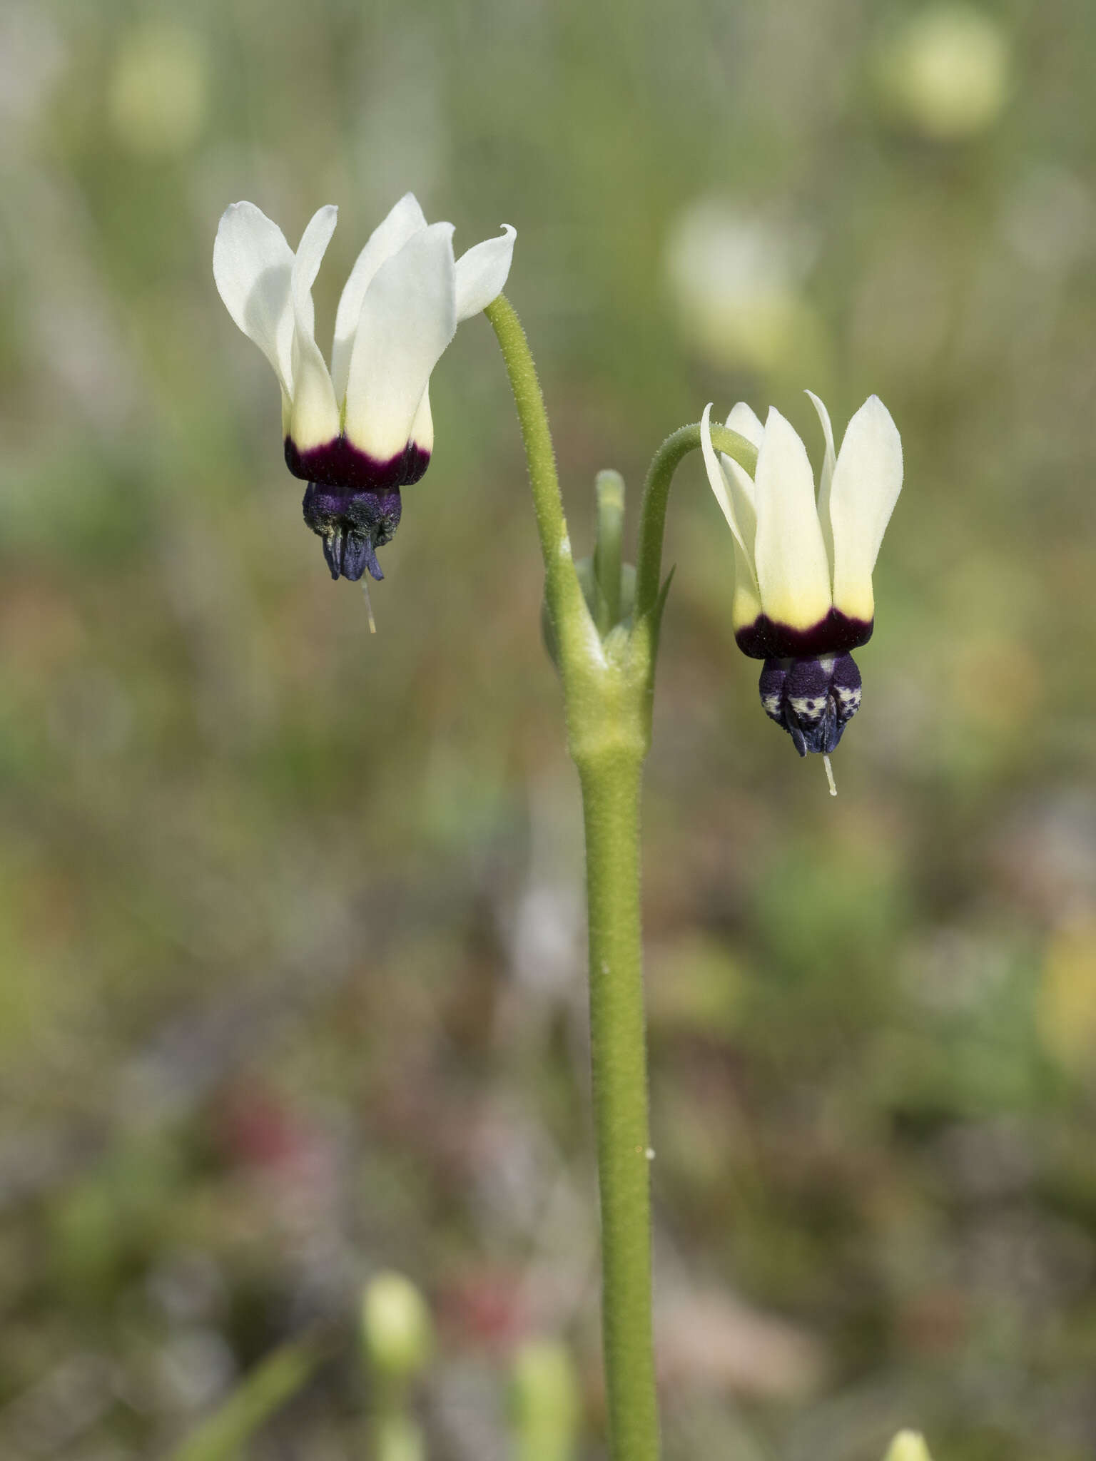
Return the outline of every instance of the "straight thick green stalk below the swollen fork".
<path id="1" fill-rule="evenodd" d="M 643 760 L 579 767 L 590 929 L 590 1052 L 602 1230 L 602 1328 L 612 1455 L 659 1454 L 650 1318 L 650 1135 L 640 944 Z"/>

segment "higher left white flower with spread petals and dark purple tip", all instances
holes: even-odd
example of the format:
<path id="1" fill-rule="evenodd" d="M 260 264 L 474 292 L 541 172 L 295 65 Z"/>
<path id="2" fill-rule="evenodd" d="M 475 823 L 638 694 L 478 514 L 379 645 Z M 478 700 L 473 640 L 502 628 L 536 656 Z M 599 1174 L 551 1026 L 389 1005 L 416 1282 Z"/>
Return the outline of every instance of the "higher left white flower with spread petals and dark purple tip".
<path id="1" fill-rule="evenodd" d="M 338 209 L 321 207 L 297 253 L 254 203 L 225 209 L 213 279 L 282 387 L 285 462 L 308 482 L 304 520 L 332 577 L 381 577 L 376 549 L 400 514 L 400 488 L 430 465 L 430 374 L 457 324 L 487 308 L 510 272 L 506 225 L 453 257 L 453 225 L 427 224 L 412 193 L 358 254 L 335 317 L 330 371 L 316 343 L 313 282 Z"/>

